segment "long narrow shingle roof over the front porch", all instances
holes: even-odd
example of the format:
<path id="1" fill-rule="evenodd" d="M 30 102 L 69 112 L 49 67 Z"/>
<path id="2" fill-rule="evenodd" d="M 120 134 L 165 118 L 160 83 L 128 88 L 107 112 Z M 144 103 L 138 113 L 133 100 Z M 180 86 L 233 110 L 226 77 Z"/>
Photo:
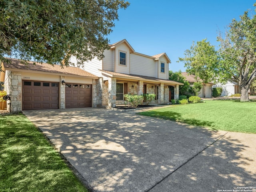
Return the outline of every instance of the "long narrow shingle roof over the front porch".
<path id="1" fill-rule="evenodd" d="M 125 77 L 125 78 L 130 78 L 130 79 L 137 79 L 137 80 L 150 80 L 150 81 L 154 81 L 154 82 L 158 82 L 158 83 L 168 83 L 168 84 L 175 84 L 175 85 L 183 85 L 180 82 L 176 82 L 176 81 L 172 81 L 172 80 L 168 80 L 168 79 L 159 79 L 159 78 L 155 78 L 155 77 L 149 77 L 149 76 L 142 76 L 142 75 L 134 75 L 134 74 L 123 74 L 123 73 L 116 73 L 116 72 L 112 72 L 112 71 L 106 71 L 106 70 L 100 70 L 106 74 L 110 74 L 112 76 L 115 77 Z"/>

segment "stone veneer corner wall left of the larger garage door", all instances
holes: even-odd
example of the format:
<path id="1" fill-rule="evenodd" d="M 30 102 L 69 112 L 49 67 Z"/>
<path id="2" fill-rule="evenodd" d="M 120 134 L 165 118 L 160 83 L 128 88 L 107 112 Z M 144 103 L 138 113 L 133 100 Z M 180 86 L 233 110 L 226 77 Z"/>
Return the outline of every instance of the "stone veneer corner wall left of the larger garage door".
<path id="1" fill-rule="evenodd" d="M 6 71 L 8 78 L 5 82 L 7 94 L 10 94 L 11 99 L 7 101 L 8 112 L 19 112 L 22 110 L 22 80 L 21 73 L 14 71 Z"/>

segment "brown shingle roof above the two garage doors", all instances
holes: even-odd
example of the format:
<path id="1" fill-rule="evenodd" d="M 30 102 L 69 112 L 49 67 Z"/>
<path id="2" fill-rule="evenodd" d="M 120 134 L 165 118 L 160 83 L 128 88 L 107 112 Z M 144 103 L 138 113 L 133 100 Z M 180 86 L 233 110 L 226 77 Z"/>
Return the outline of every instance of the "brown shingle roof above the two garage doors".
<path id="1" fill-rule="evenodd" d="M 96 75 L 91 74 L 87 71 L 84 71 L 78 67 L 66 67 L 63 68 L 60 65 L 50 65 L 47 63 L 39 63 L 33 61 L 28 61 L 28 64 L 22 64 L 20 60 L 14 58 L 8 58 L 10 63 L 4 63 L 4 68 L 6 70 L 18 69 L 18 70 L 28 70 L 28 71 L 37 71 L 37 72 L 48 72 L 48 73 L 57 73 L 57 74 L 65 74 L 65 75 L 72 75 L 72 76 L 83 76 L 83 77 L 91 77 L 91 78 L 98 78 Z"/>

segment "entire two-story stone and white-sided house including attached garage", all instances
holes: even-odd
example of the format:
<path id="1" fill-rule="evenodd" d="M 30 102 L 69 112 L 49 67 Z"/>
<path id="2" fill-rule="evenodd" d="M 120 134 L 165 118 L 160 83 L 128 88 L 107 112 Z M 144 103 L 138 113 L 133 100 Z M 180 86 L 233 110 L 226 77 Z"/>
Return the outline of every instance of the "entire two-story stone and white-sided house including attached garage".
<path id="1" fill-rule="evenodd" d="M 154 93 L 154 103 L 164 104 L 169 102 L 169 86 L 178 98 L 182 83 L 168 80 L 170 59 L 165 53 L 140 54 L 122 40 L 110 45 L 104 56 L 85 63 L 84 70 L 46 63 L 24 65 L 11 58 L 11 63 L 1 63 L 0 81 L 10 95 L 8 111 L 112 108 L 125 103 L 126 93 Z"/>

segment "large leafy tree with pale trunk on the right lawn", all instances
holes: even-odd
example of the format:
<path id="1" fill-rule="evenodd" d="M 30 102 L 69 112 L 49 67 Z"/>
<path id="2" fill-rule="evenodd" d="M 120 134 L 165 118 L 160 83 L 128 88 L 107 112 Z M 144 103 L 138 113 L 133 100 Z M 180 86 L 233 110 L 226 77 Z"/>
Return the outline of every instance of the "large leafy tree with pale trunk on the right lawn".
<path id="1" fill-rule="evenodd" d="M 218 50 L 202 40 L 186 50 L 185 57 L 179 60 L 185 63 L 189 73 L 205 82 L 236 82 L 241 90 L 240 101 L 247 102 L 248 91 L 256 78 L 256 15 L 249 17 L 246 11 L 228 27 L 224 36 L 220 34 L 217 38 Z"/>

